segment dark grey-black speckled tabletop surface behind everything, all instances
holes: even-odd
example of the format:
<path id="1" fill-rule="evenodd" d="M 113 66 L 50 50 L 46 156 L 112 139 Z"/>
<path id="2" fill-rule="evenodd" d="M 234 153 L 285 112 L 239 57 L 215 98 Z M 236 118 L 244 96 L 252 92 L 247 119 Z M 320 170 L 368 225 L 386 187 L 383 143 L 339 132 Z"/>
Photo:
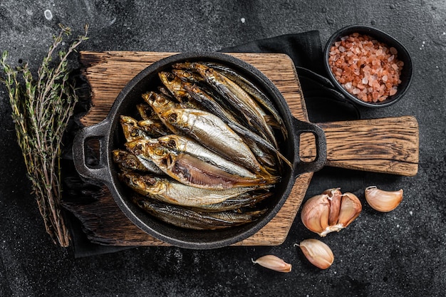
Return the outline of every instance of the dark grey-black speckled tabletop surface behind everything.
<path id="1" fill-rule="evenodd" d="M 45 18 L 46 9 L 53 19 Z M 75 258 L 73 249 L 54 245 L 44 231 L 1 85 L 0 296 L 445 296 L 444 1 L 2 0 L 0 51 L 8 50 L 14 65 L 28 61 L 36 69 L 59 22 L 72 26 L 75 35 L 90 24 L 90 40 L 81 46 L 89 51 L 217 51 L 309 30 L 320 31 L 324 44 L 343 26 L 373 25 L 408 48 L 415 73 L 403 100 L 361 109 L 361 118 L 415 115 L 420 167 L 415 177 L 329 168 L 315 174 L 307 198 L 328 187 L 405 190 L 395 211 L 380 214 L 365 204 L 348 229 L 323 239 L 336 256 L 326 271 L 308 264 L 293 246 L 316 238 L 300 219 L 281 246 L 140 247 Z M 360 187 L 346 188 L 350 177 Z M 264 254 L 280 256 L 293 271 L 251 264 Z"/>

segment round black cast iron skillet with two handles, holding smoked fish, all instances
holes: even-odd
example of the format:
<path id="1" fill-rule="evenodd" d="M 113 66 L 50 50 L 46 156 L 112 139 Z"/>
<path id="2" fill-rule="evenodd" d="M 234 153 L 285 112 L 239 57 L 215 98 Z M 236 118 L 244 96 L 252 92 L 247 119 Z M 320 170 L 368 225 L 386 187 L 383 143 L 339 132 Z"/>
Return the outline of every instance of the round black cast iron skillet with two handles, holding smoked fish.
<path id="1" fill-rule="evenodd" d="M 234 68 L 261 88 L 266 95 L 269 95 L 284 118 L 289 137 L 287 140 L 279 140 L 281 152 L 292 162 L 294 167 L 285 167 L 281 182 L 274 189 L 275 194 L 264 202 L 264 207 L 268 211 L 255 222 L 229 229 L 210 231 L 182 229 L 165 224 L 133 204 L 130 201 L 130 189 L 118 179 L 118 168 L 113 163 L 111 152 L 117 148 L 123 148 L 125 143 L 120 127 L 120 115 L 130 115 L 136 118 L 136 105 L 143 102 L 142 93 L 148 90 L 157 90 L 157 86 L 160 85 L 157 73 L 170 71 L 172 64 L 180 61 L 217 62 Z M 316 140 L 316 158 L 311 162 L 303 162 L 299 157 L 299 137 L 304 132 L 312 133 Z M 85 142 L 91 138 L 98 139 L 100 144 L 100 162 L 96 167 L 89 167 L 85 164 Z M 323 167 L 326 162 L 326 138 L 323 130 L 317 125 L 294 118 L 276 86 L 263 73 L 248 63 L 224 53 L 180 53 L 153 63 L 130 80 L 116 98 L 107 118 L 97 125 L 84 127 L 78 132 L 73 143 L 73 160 L 76 170 L 81 176 L 105 183 L 113 194 L 118 207 L 147 234 L 169 244 L 188 249 L 214 249 L 247 239 L 265 226 L 279 212 L 288 198 L 296 177 L 304 172 L 318 171 Z"/>

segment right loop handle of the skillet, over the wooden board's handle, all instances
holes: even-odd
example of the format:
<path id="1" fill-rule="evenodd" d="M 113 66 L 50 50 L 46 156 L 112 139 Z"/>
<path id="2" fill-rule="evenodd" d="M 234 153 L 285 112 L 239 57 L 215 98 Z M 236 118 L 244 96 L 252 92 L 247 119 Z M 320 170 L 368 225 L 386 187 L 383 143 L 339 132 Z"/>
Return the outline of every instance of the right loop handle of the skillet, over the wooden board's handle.
<path id="1" fill-rule="evenodd" d="M 302 173 L 316 172 L 321 170 L 327 160 L 327 144 L 325 132 L 322 128 L 313 123 L 304 122 L 293 118 L 293 125 L 295 130 L 295 147 L 296 161 L 294 162 L 294 177 L 298 177 Z M 303 133 L 311 133 L 314 135 L 316 141 L 316 157 L 314 160 L 306 162 L 301 160 L 299 155 L 299 142 Z"/>

